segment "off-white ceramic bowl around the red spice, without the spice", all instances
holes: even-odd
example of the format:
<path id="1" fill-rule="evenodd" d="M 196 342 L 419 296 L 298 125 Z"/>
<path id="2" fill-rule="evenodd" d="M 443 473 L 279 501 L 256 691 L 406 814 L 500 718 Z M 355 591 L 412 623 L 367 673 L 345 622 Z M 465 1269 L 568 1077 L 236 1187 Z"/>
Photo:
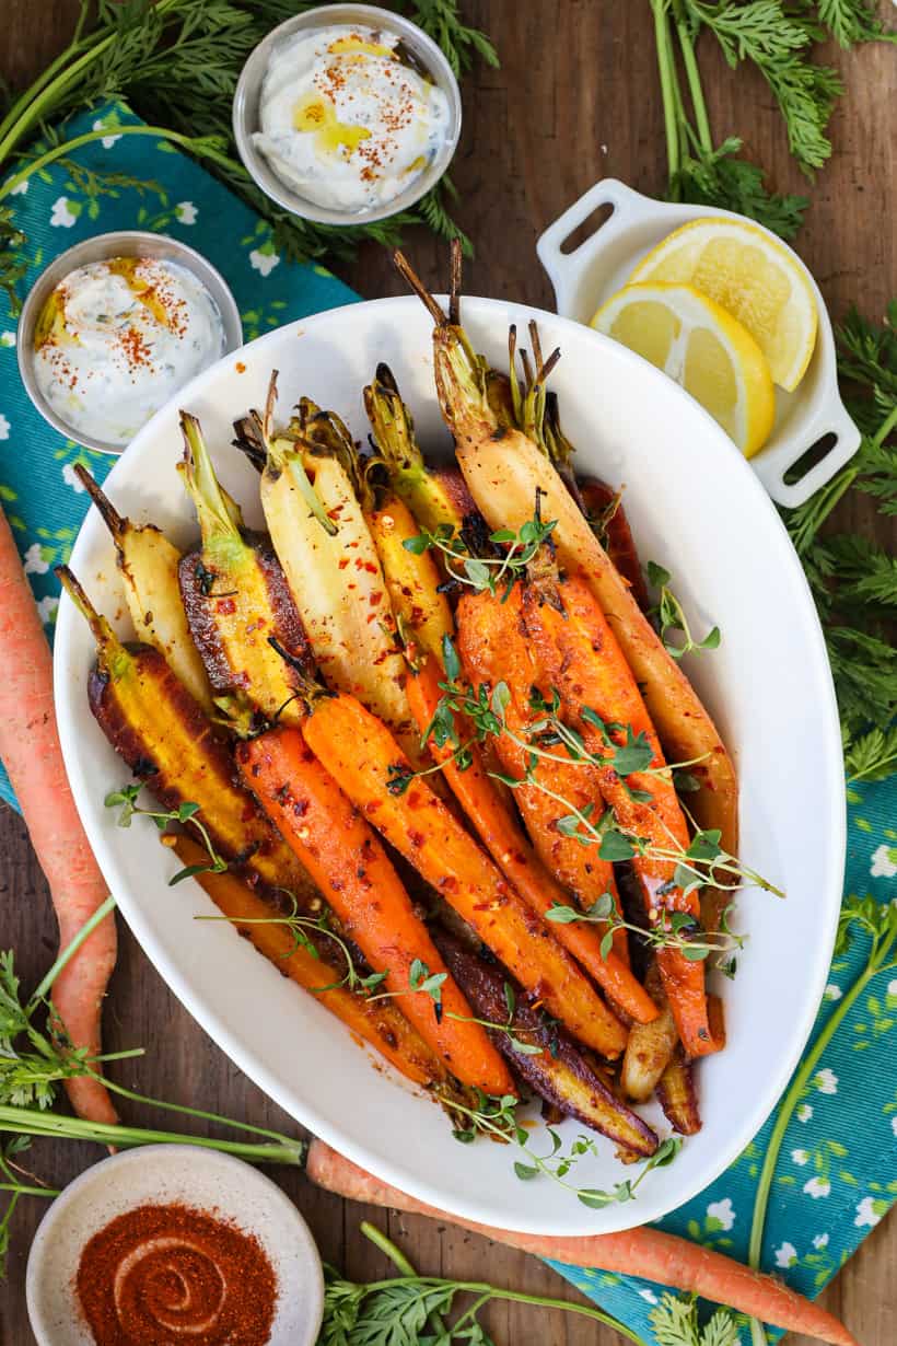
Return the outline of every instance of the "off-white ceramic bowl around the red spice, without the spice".
<path id="1" fill-rule="evenodd" d="M 38 1277 L 43 1272 L 44 1264 L 47 1261 L 52 1261 L 56 1222 L 61 1218 L 65 1218 L 66 1211 L 73 1205 L 85 1201 L 85 1191 L 90 1191 L 91 1183 L 98 1180 L 100 1174 L 108 1175 L 109 1170 L 113 1168 L 118 1175 L 118 1182 L 126 1183 L 125 1174 L 128 1172 L 129 1166 L 133 1167 L 134 1164 L 144 1164 L 147 1162 L 164 1163 L 164 1160 L 172 1154 L 187 1160 L 199 1159 L 199 1162 L 204 1162 L 207 1164 L 217 1164 L 221 1171 L 222 1182 L 227 1182 L 230 1174 L 234 1175 L 235 1182 L 239 1182 L 242 1171 L 249 1170 L 251 1180 L 258 1182 L 258 1189 L 265 1190 L 269 1201 L 274 1203 L 274 1207 L 284 1213 L 284 1221 L 292 1222 L 293 1233 L 297 1237 L 297 1246 L 303 1248 L 305 1263 L 308 1265 L 308 1283 L 304 1285 L 304 1291 L 312 1302 L 311 1322 L 313 1323 L 313 1333 L 301 1342 L 297 1342 L 296 1346 L 311 1346 L 311 1342 L 317 1338 L 320 1323 L 324 1316 L 324 1273 L 317 1244 L 315 1242 L 315 1237 L 301 1210 L 288 1197 L 282 1187 L 278 1187 L 277 1183 L 268 1176 L 268 1174 L 264 1174 L 251 1164 L 247 1164 L 246 1160 L 211 1147 L 184 1145 L 176 1143 L 139 1145 L 134 1149 L 122 1149 L 118 1154 L 108 1156 L 106 1159 L 100 1159 L 97 1163 L 90 1164 L 73 1178 L 50 1205 L 31 1241 L 28 1260 L 26 1264 L 26 1300 L 28 1319 L 31 1322 L 32 1331 L 38 1338 L 39 1346 L 51 1346 L 55 1337 L 55 1334 L 47 1330 L 48 1324 L 43 1311 L 43 1303 L 39 1298 Z M 242 1180 L 246 1179 L 242 1178 Z M 251 1224 L 247 1225 L 247 1232 L 256 1232 Z"/>

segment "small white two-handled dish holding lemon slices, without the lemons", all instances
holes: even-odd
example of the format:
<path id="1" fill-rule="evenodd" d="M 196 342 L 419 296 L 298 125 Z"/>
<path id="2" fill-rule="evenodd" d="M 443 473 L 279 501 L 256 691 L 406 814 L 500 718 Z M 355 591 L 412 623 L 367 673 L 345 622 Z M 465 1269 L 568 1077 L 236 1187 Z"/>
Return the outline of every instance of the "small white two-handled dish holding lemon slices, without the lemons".
<path id="1" fill-rule="evenodd" d="M 584 242 L 565 252 L 566 240 L 602 207 L 609 209 L 611 214 L 596 223 L 594 232 Z M 753 219 L 715 206 L 654 201 L 616 178 L 597 182 L 549 225 L 537 244 L 539 261 L 554 285 L 558 312 L 580 323 L 590 322 L 601 304 L 627 284 L 636 264 L 652 248 L 674 229 L 709 215 L 745 219 L 746 223 L 761 227 Z M 775 234 L 769 237 L 780 246 L 788 246 Z M 795 392 L 776 389 L 776 423 L 767 444 L 752 458 L 750 466 L 777 505 L 793 507 L 803 505 L 853 458 L 859 448 L 859 431 L 838 392 L 835 339 L 826 303 L 797 253 L 788 250 L 810 281 L 816 300 L 816 347 Z M 797 475 L 796 481 L 789 479 L 791 470 L 803 455 L 827 436 L 832 436 L 832 441 L 822 456 L 803 475 Z"/>

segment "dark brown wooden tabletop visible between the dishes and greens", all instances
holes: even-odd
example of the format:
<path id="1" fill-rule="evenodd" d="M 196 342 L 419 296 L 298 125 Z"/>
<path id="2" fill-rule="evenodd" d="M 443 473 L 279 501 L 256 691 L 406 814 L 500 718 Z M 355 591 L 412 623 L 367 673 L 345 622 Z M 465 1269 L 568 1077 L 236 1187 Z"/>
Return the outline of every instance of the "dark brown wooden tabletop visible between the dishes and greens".
<path id="1" fill-rule="evenodd" d="M 24 85 L 55 55 L 71 31 L 75 0 L 4 0 L 0 75 Z M 496 39 L 500 70 L 480 69 L 464 83 L 464 136 L 452 168 L 461 192 L 459 219 L 473 237 L 476 260 L 467 288 L 473 293 L 551 307 L 535 258 L 539 232 L 601 176 L 616 176 L 648 194 L 664 187 L 660 100 L 647 0 L 467 0 L 464 5 Z M 882 12 L 890 9 L 882 5 Z M 781 188 L 802 190 L 772 98 L 753 71 L 733 75 L 715 52 L 702 51 L 717 139 L 733 132 L 752 159 L 765 164 Z M 893 108 L 897 65 L 893 48 L 832 52 L 847 77 L 847 97 L 832 121 L 834 156 L 810 188 L 812 206 L 799 249 L 835 315 L 857 300 L 880 315 L 897 289 L 893 217 Z M 892 109 L 890 113 L 888 109 Z M 430 284 L 445 271 L 444 249 L 421 234 L 410 252 Z M 364 252 L 346 273 L 366 297 L 399 292 L 385 258 Z M 849 502 L 841 522 L 874 526 L 867 502 Z M 881 525 L 878 525 L 880 528 Z M 877 529 L 878 530 L 878 529 Z M 22 820 L 0 812 L 0 948 L 15 948 L 26 985 L 32 985 L 55 950 L 55 922 L 43 876 Z M 202 1104 L 250 1121 L 293 1131 L 293 1124 L 214 1046 L 175 1000 L 120 922 L 121 953 L 106 1003 L 110 1050 L 148 1044 L 144 1061 L 117 1071 L 143 1093 Z M 149 1113 L 128 1109 L 128 1120 Z M 159 1124 L 159 1114 L 156 1114 Z M 164 1123 L 163 1123 L 164 1124 Z M 39 1144 L 30 1164 L 61 1186 L 100 1158 L 91 1147 Z M 429 1273 L 487 1276 L 499 1285 L 577 1300 L 580 1296 L 535 1259 L 420 1218 L 371 1211 L 313 1190 L 299 1174 L 278 1172 L 301 1206 L 324 1257 L 355 1279 L 385 1273 L 385 1259 L 359 1233 L 374 1218 Z M 24 1267 L 38 1201 L 20 1202 L 15 1217 L 9 1275 L 0 1287 L 0 1341 L 30 1346 Z M 897 1315 L 897 1221 L 885 1221 L 827 1289 L 824 1303 L 865 1346 L 890 1346 Z M 543 1342 L 559 1346 L 623 1341 L 572 1315 L 500 1307 L 490 1316 L 500 1346 Z M 791 1338 L 797 1343 L 808 1338 Z"/>

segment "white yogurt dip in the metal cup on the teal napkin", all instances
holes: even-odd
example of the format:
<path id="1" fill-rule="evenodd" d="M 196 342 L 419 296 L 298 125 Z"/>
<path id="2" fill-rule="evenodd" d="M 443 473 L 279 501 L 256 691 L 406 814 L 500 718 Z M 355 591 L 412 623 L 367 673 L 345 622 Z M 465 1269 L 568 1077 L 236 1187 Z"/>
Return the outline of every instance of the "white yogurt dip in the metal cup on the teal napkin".
<path id="1" fill-rule="evenodd" d="M 34 371 L 75 433 L 125 446 L 195 374 L 225 354 L 212 296 L 187 267 L 112 257 L 59 281 L 35 326 Z"/>

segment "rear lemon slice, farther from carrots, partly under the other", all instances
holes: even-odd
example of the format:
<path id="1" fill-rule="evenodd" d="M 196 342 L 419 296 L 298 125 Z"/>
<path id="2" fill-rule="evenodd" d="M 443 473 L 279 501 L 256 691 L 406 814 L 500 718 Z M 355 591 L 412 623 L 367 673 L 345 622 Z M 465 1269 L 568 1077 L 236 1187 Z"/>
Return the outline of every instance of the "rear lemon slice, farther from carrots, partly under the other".
<path id="1" fill-rule="evenodd" d="M 816 343 L 816 302 L 783 244 L 738 219 L 693 219 L 639 262 L 628 284 L 694 285 L 737 318 L 788 392 L 803 378 Z"/>

